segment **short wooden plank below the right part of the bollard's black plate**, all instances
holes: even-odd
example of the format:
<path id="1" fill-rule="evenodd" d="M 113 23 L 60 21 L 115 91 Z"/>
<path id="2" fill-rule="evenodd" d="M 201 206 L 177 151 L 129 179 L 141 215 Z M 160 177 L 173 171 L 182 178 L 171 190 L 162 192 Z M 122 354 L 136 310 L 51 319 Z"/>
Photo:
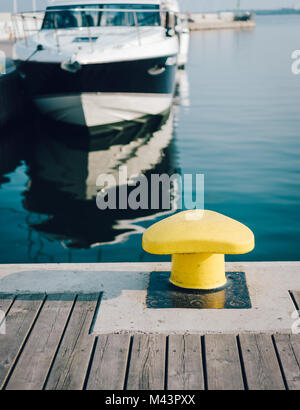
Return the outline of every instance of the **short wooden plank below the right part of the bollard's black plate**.
<path id="1" fill-rule="evenodd" d="M 241 363 L 234 335 L 206 335 L 208 390 L 243 390 Z"/>

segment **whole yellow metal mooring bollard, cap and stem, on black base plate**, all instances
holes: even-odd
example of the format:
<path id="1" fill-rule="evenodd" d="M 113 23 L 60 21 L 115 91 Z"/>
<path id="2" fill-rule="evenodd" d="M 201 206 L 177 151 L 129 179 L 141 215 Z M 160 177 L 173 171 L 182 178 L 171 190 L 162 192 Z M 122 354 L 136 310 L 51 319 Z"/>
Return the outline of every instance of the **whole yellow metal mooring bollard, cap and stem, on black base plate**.
<path id="1" fill-rule="evenodd" d="M 213 290 L 226 285 L 224 255 L 252 251 L 254 235 L 247 226 L 217 212 L 183 211 L 148 228 L 143 248 L 172 255 L 173 285 Z"/>

